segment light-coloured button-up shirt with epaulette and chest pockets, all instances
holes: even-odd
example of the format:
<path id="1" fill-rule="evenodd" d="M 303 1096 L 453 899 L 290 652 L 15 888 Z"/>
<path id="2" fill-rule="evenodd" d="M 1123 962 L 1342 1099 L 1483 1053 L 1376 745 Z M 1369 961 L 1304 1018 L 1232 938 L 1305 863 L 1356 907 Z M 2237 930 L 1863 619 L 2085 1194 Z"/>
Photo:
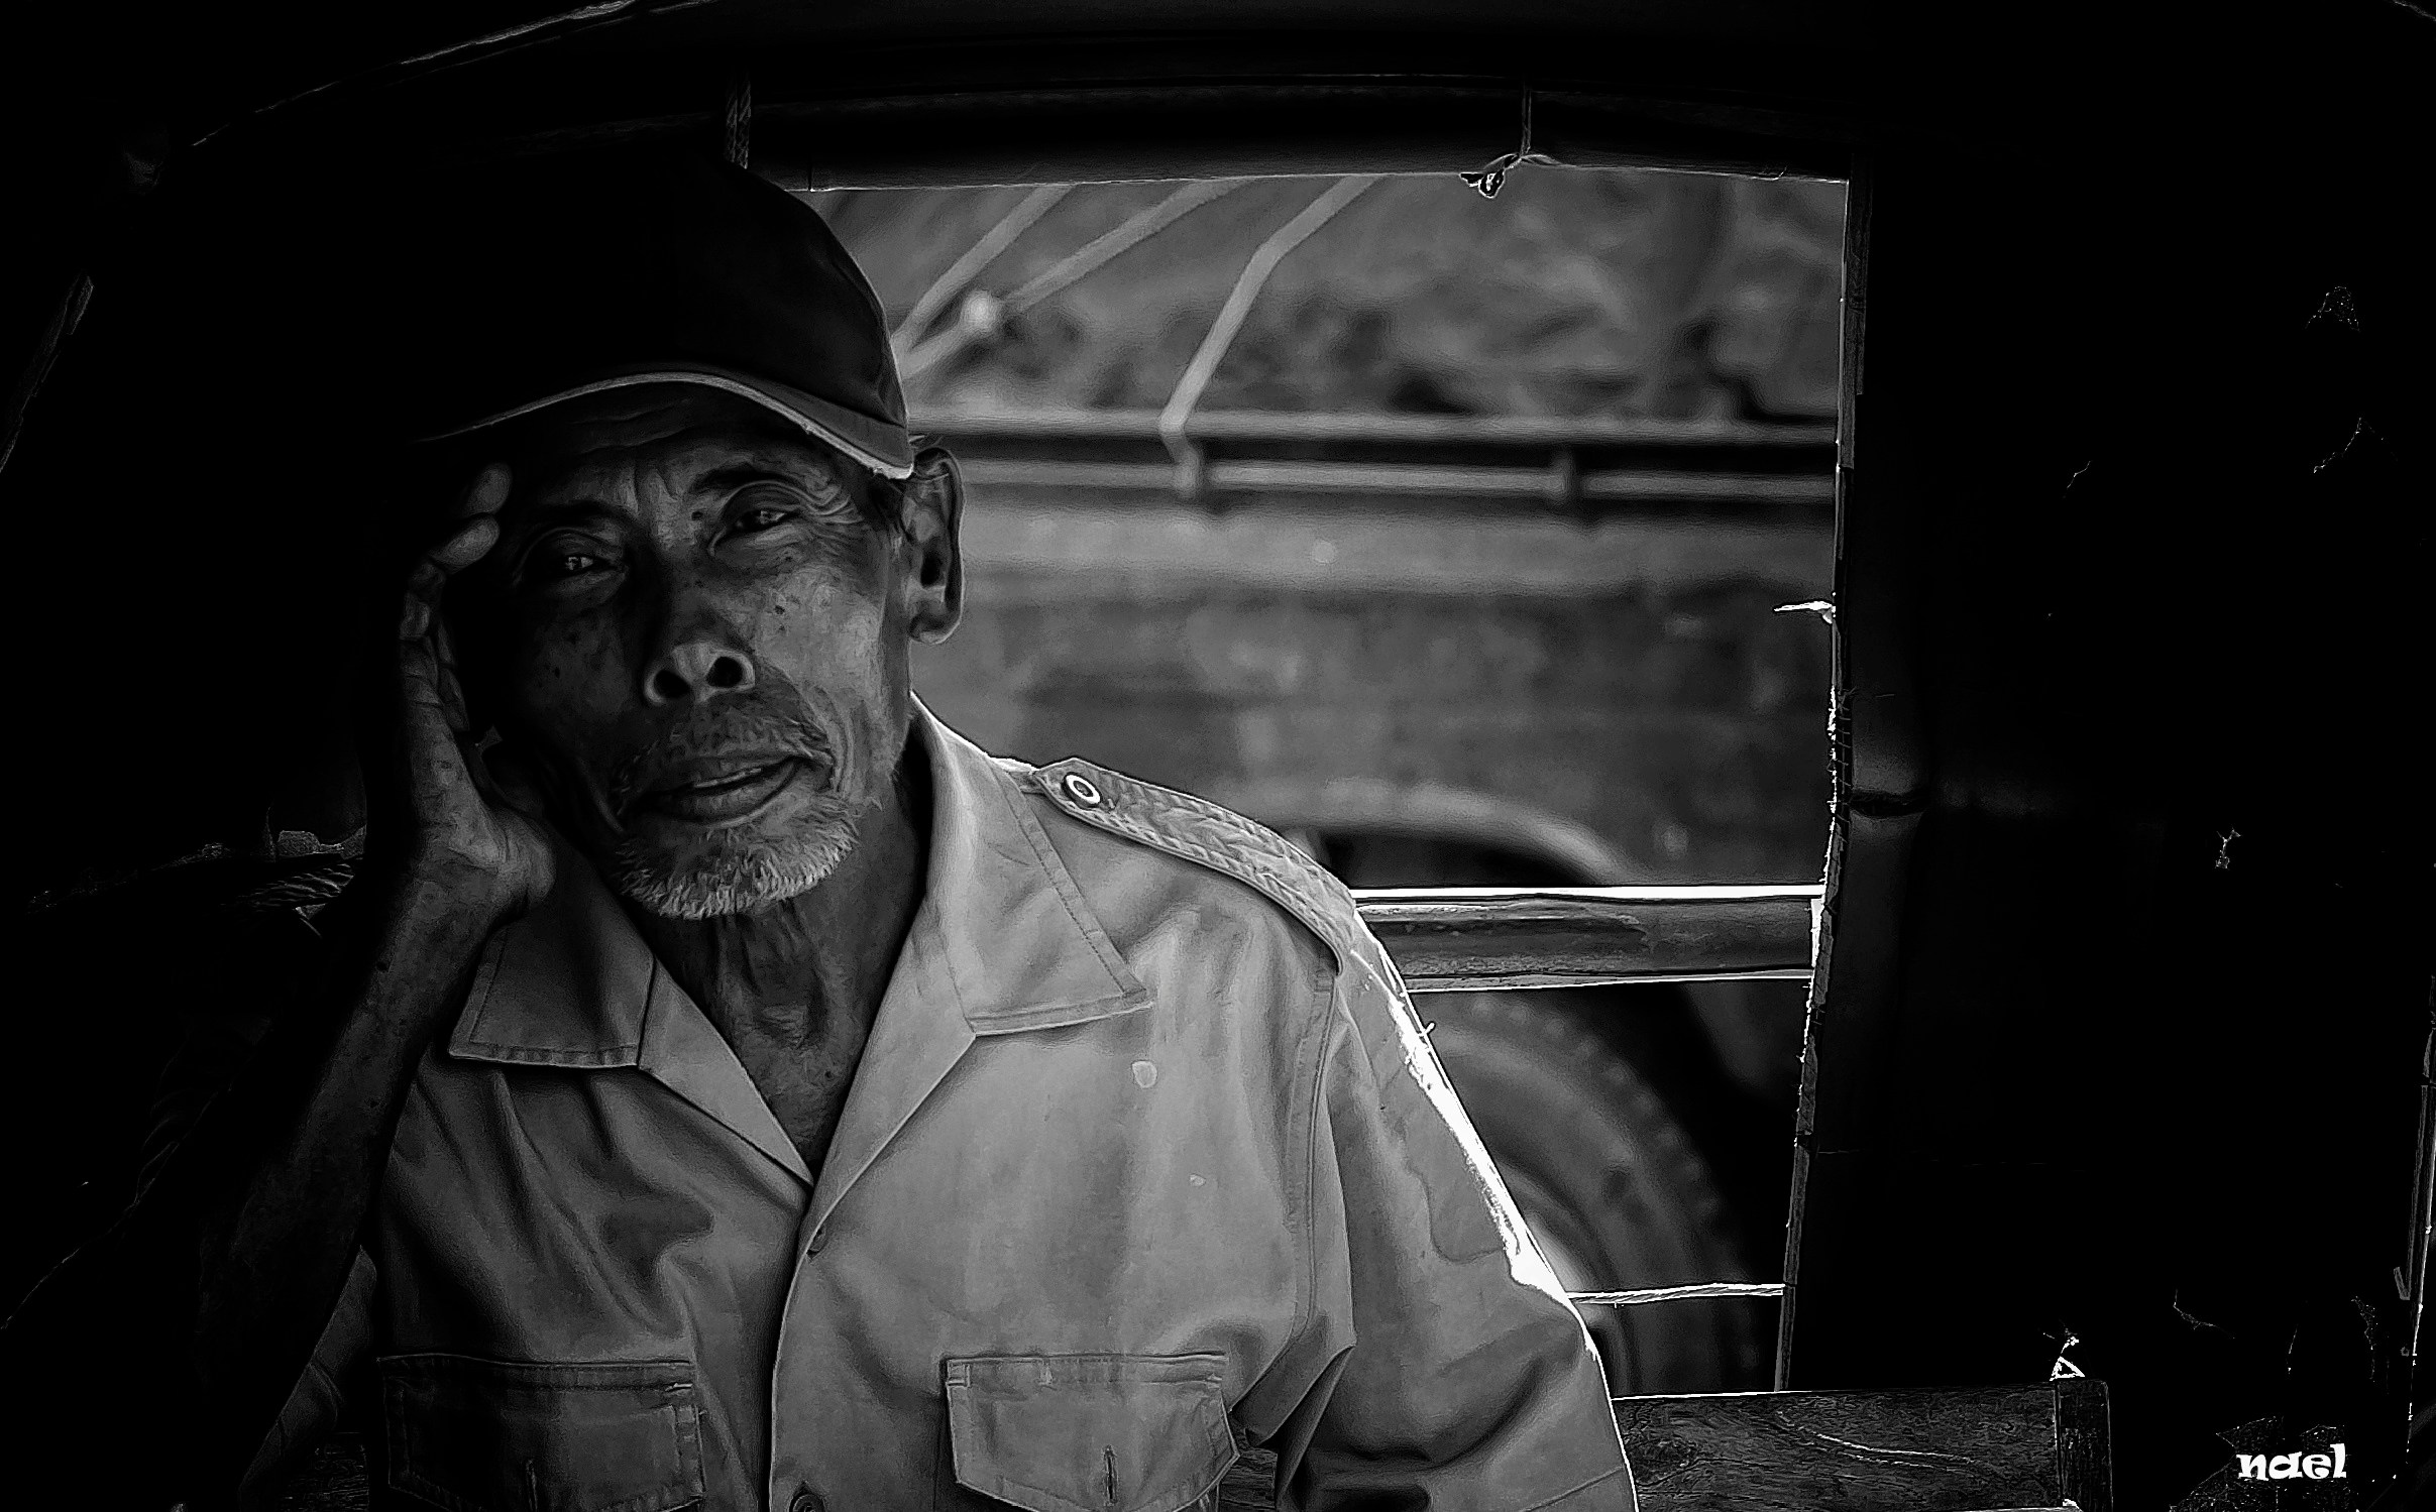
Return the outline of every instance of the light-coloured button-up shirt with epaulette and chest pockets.
<path id="1" fill-rule="evenodd" d="M 818 1171 L 599 877 L 421 1064 L 300 1402 L 375 1495 L 1630 1512 L 1598 1356 L 1303 852 L 928 713 L 926 896 Z M 287 1429 L 314 1412 L 290 1405 Z"/>

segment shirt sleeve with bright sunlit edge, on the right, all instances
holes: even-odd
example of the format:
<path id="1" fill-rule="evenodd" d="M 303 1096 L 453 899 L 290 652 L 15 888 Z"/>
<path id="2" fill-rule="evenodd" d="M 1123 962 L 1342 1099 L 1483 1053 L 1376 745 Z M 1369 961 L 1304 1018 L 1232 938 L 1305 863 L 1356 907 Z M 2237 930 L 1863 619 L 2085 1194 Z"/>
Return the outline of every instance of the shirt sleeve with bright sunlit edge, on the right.
<path id="1" fill-rule="evenodd" d="M 1588 1329 L 1522 1227 L 1384 952 L 1313 1086 L 1311 1385 L 1279 1507 L 1635 1512 Z M 1291 1366 L 1289 1366 L 1291 1368 Z"/>

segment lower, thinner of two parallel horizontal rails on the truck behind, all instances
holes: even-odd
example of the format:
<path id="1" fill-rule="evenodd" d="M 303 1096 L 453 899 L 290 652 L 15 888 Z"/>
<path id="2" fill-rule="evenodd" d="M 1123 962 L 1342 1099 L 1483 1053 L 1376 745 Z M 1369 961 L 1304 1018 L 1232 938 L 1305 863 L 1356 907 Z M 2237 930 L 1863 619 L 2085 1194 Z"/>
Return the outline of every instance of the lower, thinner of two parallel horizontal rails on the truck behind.
<path id="1" fill-rule="evenodd" d="M 962 465 L 972 487 L 1157 489 L 1177 470 L 1164 463 L 1028 463 L 977 458 Z M 1432 467 L 1371 463 L 1208 463 L 1203 492 L 1398 494 L 1432 499 L 1532 499 L 1549 504 L 1544 467 Z M 1583 472 L 1586 502 L 1649 504 L 1832 504 L 1832 477 L 1769 472 Z"/>

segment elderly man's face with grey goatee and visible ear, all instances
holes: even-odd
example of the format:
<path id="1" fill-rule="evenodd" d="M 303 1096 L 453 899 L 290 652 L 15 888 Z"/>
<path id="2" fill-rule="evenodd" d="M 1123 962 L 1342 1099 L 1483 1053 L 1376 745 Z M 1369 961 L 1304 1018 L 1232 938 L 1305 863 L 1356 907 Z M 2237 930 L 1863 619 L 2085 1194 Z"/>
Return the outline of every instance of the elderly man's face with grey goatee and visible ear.
<path id="1" fill-rule="evenodd" d="M 955 628 L 952 472 L 923 467 L 899 504 L 685 385 L 543 411 L 509 465 L 470 655 L 553 823 L 672 918 L 828 877 L 896 777 L 909 640 Z"/>

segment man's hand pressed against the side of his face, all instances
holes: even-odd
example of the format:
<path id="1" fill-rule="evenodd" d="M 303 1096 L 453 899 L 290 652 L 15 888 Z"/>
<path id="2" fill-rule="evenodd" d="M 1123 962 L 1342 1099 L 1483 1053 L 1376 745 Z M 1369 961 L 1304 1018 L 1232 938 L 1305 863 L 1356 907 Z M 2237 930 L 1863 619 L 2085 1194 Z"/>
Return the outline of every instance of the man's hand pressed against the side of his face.
<path id="1" fill-rule="evenodd" d="M 458 528 L 407 575 L 397 616 L 397 772 L 404 782 L 409 898 L 446 903 L 485 930 L 551 896 L 553 862 L 529 791 L 507 791 L 465 711 L 441 597 L 499 543 L 509 472 L 492 463 L 465 489 Z"/>

